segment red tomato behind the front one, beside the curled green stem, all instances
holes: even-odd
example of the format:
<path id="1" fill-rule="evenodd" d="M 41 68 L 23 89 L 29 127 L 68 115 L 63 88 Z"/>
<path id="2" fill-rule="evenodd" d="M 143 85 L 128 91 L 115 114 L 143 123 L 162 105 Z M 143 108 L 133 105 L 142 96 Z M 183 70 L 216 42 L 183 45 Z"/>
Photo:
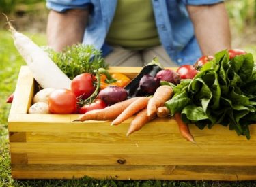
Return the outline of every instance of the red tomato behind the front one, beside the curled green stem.
<path id="1" fill-rule="evenodd" d="M 90 73 L 77 75 L 71 82 L 71 90 L 76 97 L 87 99 L 95 90 L 94 80 L 94 76 Z"/>

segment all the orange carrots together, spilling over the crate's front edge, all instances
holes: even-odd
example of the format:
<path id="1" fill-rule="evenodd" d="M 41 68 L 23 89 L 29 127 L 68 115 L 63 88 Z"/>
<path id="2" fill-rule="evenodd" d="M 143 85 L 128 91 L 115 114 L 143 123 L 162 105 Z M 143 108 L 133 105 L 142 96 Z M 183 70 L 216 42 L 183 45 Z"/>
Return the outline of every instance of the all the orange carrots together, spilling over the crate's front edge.
<path id="1" fill-rule="evenodd" d="M 139 131 L 147 122 L 153 120 L 156 116 L 164 118 L 169 115 L 169 109 L 165 107 L 165 101 L 173 95 L 173 90 L 170 86 L 164 85 L 156 89 L 153 97 L 133 97 L 125 101 L 115 103 L 104 109 L 96 109 L 89 111 L 75 121 L 85 120 L 113 120 L 111 126 L 118 125 L 135 115 L 130 123 L 130 127 L 126 136 Z M 190 134 L 188 125 L 184 124 L 180 118 L 180 114 L 175 114 L 175 120 L 179 126 L 182 137 L 186 140 L 195 143 L 193 136 Z"/>

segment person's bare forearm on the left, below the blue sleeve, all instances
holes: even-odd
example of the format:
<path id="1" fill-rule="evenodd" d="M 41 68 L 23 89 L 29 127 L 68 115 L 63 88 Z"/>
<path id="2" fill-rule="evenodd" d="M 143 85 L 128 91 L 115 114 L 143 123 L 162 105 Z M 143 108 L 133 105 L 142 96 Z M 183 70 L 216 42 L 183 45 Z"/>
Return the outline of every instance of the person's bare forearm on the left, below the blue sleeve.
<path id="1" fill-rule="evenodd" d="M 50 11 L 47 24 L 48 46 L 61 51 L 66 46 L 81 43 L 89 16 L 88 10 Z"/>

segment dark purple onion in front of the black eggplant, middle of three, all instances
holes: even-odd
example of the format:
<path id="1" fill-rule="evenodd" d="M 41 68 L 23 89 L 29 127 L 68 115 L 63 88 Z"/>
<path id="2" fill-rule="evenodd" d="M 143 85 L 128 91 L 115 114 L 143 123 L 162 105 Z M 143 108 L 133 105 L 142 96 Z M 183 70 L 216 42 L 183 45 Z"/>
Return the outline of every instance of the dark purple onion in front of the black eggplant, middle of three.
<path id="1" fill-rule="evenodd" d="M 156 88 L 160 86 L 160 79 L 151 75 L 144 75 L 139 81 L 139 88 L 147 95 L 153 95 Z"/>

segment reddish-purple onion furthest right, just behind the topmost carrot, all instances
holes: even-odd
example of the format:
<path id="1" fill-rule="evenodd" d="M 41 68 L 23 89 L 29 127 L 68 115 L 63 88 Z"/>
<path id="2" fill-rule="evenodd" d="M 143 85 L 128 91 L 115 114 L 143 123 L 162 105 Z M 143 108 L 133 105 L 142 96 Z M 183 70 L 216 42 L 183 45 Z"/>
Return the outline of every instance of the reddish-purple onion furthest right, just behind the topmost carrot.
<path id="1" fill-rule="evenodd" d="M 159 78 L 161 81 L 171 82 L 173 84 L 180 83 L 180 74 L 176 73 L 171 69 L 163 69 L 156 74 L 156 78 Z"/>

